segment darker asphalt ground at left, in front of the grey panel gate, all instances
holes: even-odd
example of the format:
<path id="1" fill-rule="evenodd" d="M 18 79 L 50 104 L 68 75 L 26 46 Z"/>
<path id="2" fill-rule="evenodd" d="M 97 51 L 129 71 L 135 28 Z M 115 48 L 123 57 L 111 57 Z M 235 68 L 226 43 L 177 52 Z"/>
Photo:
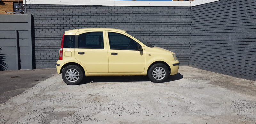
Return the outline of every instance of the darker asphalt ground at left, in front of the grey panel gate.
<path id="1" fill-rule="evenodd" d="M 0 71 L 0 104 L 56 74 L 56 69 Z"/>

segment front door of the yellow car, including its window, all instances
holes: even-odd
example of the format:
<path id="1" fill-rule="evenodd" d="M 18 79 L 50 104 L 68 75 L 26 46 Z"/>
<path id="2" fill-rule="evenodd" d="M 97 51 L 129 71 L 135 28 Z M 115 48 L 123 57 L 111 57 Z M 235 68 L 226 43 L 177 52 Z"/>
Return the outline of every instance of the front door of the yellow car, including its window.
<path id="1" fill-rule="evenodd" d="M 141 44 L 124 33 L 106 31 L 106 34 L 109 73 L 144 72 L 145 52 L 138 51 Z"/>

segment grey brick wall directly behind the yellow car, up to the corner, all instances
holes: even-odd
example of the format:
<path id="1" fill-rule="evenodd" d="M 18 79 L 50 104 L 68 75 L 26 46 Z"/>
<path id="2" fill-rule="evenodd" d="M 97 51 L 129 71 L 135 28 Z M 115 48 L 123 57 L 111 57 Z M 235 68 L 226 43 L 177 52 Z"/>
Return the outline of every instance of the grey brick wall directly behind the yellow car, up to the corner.
<path id="1" fill-rule="evenodd" d="M 107 27 L 129 31 L 177 54 L 188 65 L 189 7 L 129 7 L 27 4 L 35 22 L 36 68 L 55 68 L 62 35 L 76 28 Z"/>

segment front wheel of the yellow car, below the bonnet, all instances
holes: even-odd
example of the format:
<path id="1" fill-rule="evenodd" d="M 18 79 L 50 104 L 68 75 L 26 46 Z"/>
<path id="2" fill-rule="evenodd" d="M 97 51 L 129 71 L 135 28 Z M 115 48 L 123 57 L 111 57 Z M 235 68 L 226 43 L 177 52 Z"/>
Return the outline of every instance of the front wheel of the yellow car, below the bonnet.
<path id="1" fill-rule="evenodd" d="M 156 71 L 155 69 L 159 71 Z M 153 71 L 154 71 L 154 75 L 153 75 Z M 156 63 L 153 66 L 151 66 L 148 70 L 148 78 L 150 79 L 151 82 L 155 82 L 155 83 L 164 82 L 169 77 L 169 75 L 170 75 L 169 70 L 167 66 L 164 65 L 163 63 Z"/>

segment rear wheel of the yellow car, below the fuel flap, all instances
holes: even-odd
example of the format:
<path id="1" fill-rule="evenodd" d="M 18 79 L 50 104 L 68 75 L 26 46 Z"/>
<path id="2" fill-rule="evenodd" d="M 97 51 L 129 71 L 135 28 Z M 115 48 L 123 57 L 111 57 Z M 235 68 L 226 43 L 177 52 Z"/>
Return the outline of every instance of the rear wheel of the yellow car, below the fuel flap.
<path id="1" fill-rule="evenodd" d="M 71 69 L 71 70 L 70 70 Z M 71 74 L 69 74 L 71 72 Z M 70 76 L 66 76 L 69 74 Z M 79 76 L 77 76 L 77 74 Z M 62 71 L 62 79 L 68 85 L 77 85 L 81 83 L 85 77 L 84 70 L 77 65 L 68 65 Z M 76 79 L 77 78 L 77 79 Z"/>

